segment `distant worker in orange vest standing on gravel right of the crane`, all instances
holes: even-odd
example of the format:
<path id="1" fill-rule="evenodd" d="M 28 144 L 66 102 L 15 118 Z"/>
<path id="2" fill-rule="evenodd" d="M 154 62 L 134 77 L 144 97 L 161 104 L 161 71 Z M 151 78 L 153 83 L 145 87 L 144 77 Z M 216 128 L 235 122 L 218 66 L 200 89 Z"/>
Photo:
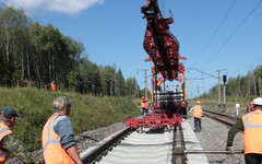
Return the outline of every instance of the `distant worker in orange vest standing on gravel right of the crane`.
<path id="1" fill-rule="evenodd" d="M 194 105 L 190 109 L 190 112 L 192 112 L 192 110 L 193 110 L 193 118 L 194 118 L 194 131 L 200 132 L 200 130 L 201 130 L 201 118 L 202 118 L 202 114 L 203 114 L 200 101 L 198 101 L 196 105 Z"/>

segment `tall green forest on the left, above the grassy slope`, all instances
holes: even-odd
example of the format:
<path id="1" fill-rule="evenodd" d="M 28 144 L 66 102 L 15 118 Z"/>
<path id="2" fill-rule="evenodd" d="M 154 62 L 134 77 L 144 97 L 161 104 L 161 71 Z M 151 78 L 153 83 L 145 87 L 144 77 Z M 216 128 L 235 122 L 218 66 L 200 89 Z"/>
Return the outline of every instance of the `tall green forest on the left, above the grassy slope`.
<path id="1" fill-rule="evenodd" d="M 0 85 L 27 83 L 94 95 L 140 97 L 136 79 L 123 78 L 114 66 L 97 66 L 83 43 L 62 35 L 51 24 L 33 23 L 23 10 L 0 8 Z"/>

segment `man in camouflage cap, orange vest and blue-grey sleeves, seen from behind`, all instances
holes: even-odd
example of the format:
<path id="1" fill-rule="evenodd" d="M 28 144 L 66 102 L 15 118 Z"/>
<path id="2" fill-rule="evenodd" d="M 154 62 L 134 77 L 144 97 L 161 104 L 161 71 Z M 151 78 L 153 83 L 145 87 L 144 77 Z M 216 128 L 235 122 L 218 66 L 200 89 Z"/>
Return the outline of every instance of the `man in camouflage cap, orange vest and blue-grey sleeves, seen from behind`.
<path id="1" fill-rule="evenodd" d="M 82 164 L 69 118 L 73 103 L 66 96 L 59 96 L 52 103 L 56 112 L 47 120 L 41 133 L 46 164 Z"/>

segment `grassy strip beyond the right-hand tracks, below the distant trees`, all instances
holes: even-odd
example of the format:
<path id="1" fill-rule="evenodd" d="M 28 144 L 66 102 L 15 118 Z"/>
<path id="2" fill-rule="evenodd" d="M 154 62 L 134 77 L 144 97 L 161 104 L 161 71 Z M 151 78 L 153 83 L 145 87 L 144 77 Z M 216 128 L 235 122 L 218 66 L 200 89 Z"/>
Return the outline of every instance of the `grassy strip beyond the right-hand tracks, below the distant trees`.
<path id="1" fill-rule="evenodd" d="M 240 108 L 238 108 L 238 112 L 240 113 L 239 117 L 246 114 L 247 106 L 250 101 L 252 101 L 254 97 L 226 97 L 226 112 L 227 115 L 236 115 L 236 104 L 240 104 Z M 224 113 L 224 99 L 222 97 L 221 99 L 221 107 L 218 108 L 218 99 L 217 98 L 205 98 L 200 99 L 202 107 L 204 109 Z M 189 106 L 195 105 L 195 99 L 189 101 Z"/>

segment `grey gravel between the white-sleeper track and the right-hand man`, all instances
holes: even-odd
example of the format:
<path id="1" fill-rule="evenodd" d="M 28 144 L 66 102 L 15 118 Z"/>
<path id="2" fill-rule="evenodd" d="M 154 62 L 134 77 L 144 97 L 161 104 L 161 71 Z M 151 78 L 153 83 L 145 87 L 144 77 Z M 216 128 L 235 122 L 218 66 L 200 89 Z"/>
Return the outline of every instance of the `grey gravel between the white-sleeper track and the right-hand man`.
<path id="1" fill-rule="evenodd" d="M 188 119 L 189 125 L 192 129 L 193 117 Z M 226 150 L 227 133 L 229 128 L 214 121 L 210 118 L 202 118 L 201 132 L 195 132 L 203 150 Z M 242 144 L 242 132 L 238 132 L 235 136 L 234 150 L 243 150 Z M 206 154 L 211 164 L 245 164 L 243 154 Z"/>

